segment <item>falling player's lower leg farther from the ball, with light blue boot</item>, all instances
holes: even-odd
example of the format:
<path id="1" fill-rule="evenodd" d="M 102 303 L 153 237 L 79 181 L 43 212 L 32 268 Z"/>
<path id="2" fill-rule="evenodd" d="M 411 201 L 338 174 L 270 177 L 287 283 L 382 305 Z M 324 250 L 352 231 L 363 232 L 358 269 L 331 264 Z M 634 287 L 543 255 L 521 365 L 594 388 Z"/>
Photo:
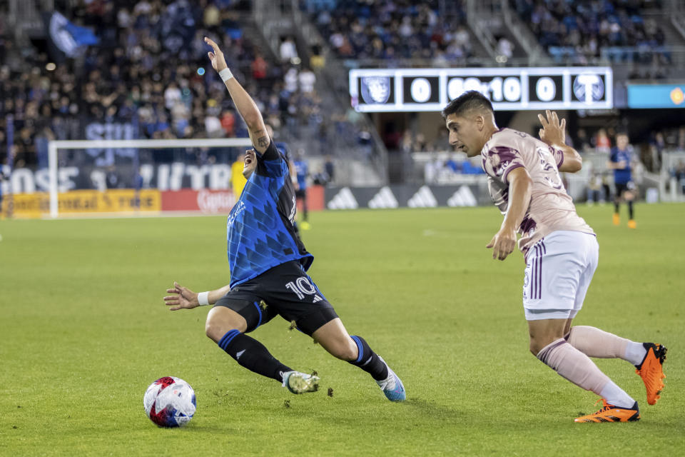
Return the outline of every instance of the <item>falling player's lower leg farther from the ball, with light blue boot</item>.
<path id="1" fill-rule="evenodd" d="M 404 401 L 405 387 L 390 366 L 375 353 L 361 336 L 350 336 L 340 318 L 325 323 L 312 333 L 326 351 L 369 373 L 390 401 Z"/>

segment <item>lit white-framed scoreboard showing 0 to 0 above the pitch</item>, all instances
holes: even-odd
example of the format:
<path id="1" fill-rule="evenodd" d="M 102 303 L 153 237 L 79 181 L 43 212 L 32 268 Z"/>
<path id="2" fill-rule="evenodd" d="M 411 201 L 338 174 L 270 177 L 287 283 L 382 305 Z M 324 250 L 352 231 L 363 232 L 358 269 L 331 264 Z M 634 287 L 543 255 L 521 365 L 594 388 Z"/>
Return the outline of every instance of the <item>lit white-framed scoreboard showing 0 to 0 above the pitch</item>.
<path id="1" fill-rule="evenodd" d="M 350 70 L 360 112 L 441 111 L 465 91 L 479 91 L 499 110 L 611 109 L 613 90 L 606 66 Z"/>

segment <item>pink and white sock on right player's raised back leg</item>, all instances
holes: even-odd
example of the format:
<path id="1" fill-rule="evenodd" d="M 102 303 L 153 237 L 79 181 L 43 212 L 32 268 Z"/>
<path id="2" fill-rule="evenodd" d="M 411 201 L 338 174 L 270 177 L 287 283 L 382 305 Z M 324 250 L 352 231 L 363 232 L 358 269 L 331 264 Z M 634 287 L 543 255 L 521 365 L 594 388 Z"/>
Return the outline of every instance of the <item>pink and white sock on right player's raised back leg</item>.
<path id="1" fill-rule="evenodd" d="M 646 354 L 642 343 L 589 326 L 572 327 L 567 341 L 588 357 L 622 358 L 633 365 L 639 365 Z"/>

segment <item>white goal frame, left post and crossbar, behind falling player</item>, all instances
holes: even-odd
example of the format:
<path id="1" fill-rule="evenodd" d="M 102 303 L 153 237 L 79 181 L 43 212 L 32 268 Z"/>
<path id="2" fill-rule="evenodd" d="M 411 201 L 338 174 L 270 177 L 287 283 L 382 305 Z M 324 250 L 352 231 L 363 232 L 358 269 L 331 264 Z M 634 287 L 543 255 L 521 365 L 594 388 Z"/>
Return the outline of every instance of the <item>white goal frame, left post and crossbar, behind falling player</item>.
<path id="1" fill-rule="evenodd" d="M 205 149 L 250 147 L 249 138 L 223 139 L 156 139 L 156 140 L 56 140 L 48 143 L 49 201 L 50 216 L 59 216 L 59 173 L 58 151 L 70 149 L 107 150 L 107 149 Z M 137 157 L 137 155 L 136 155 Z"/>

